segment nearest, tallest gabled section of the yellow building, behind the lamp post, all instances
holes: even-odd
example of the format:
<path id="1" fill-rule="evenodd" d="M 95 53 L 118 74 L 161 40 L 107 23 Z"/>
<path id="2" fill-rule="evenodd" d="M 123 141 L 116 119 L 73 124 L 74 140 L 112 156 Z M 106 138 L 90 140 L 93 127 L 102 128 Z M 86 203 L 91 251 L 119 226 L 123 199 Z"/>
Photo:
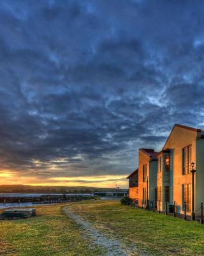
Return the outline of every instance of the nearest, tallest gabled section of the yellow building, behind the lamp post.
<path id="1" fill-rule="evenodd" d="M 163 150 L 157 155 L 157 191 L 161 191 L 161 201 L 173 204 L 178 213 L 186 210 L 191 214 L 192 174 L 194 162 L 195 209 L 204 202 L 204 131 L 175 124 Z M 161 163 L 161 167 L 159 165 Z M 169 193 L 169 194 L 168 194 Z M 158 198 L 157 198 L 158 199 Z M 200 211 L 196 212 L 197 215 Z"/>

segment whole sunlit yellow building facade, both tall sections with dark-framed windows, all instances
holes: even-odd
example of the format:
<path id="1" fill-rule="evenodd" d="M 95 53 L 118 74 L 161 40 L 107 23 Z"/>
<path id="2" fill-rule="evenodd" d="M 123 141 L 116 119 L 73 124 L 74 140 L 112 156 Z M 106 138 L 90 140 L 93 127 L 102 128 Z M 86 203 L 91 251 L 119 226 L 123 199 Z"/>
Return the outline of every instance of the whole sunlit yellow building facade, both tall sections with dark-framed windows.
<path id="1" fill-rule="evenodd" d="M 195 209 L 204 203 L 204 131 L 175 124 L 163 149 L 156 153 L 152 149 L 139 149 L 138 200 L 139 205 L 154 201 L 161 211 L 164 205 L 177 213 L 192 211 L 192 173 L 194 162 Z M 130 195 L 131 197 L 131 195 Z M 170 209 L 170 208 L 169 208 Z M 200 211 L 196 211 L 199 215 Z"/>

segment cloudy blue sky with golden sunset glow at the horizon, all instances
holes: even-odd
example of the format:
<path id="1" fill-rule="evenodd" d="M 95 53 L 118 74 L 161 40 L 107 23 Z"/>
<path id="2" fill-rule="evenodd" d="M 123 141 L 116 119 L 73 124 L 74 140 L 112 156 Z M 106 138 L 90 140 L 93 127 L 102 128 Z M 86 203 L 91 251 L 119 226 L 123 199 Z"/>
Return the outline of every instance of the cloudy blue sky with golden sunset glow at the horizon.
<path id="1" fill-rule="evenodd" d="M 0 184 L 126 188 L 204 128 L 204 3 L 0 0 Z"/>

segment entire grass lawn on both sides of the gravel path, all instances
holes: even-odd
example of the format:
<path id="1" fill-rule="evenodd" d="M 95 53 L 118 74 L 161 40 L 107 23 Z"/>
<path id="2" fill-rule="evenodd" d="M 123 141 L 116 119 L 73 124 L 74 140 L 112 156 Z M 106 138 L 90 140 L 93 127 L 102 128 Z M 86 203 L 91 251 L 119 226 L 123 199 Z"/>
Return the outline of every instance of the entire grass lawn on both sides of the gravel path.
<path id="1" fill-rule="evenodd" d="M 133 248 L 131 255 L 204 255 L 204 225 L 120 205 L 119 201 L 84 201 L 69 209 L 91 221 L 100 234 Z M 37 207 L 38 216 L 1 221 L 0 255 L 104 255 L 82 228 L 62 212 L 62 205 Z M 138 248 L 136 250 L 136 247 Z"/>

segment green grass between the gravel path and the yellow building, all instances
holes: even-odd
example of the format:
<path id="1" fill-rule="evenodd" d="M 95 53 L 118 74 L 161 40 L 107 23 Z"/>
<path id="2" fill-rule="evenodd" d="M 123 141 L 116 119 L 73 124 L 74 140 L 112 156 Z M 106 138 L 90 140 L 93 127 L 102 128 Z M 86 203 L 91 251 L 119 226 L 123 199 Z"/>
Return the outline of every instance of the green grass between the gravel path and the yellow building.
<path id="1" fill-rule="evenodd" d="M 204 255 L 204 225 L 198 222 L 135 209 L 118 201 L 80 202 L 71 209 L 101 232 L 150 255 Z M 133 255 L 137 255 L 134 250 Z"/>

